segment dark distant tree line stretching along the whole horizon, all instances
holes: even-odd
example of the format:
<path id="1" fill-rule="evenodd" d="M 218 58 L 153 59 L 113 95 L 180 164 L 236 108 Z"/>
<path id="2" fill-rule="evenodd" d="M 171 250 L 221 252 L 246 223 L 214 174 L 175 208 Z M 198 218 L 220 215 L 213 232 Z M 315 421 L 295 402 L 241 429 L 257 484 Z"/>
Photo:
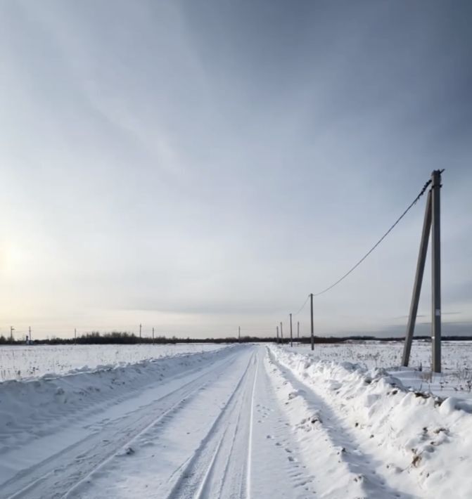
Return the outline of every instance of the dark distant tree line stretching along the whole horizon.
<path id="1" fill-rule="evenodd" d="M 414 339 L 420 339 L 423 341 L 430 341 L 429 336 L 417 336 Z M 448 341 L 464 341 L 472 340 L 470 336 L 445 336 L 442 339 Z M 293 339 L 294 342 L 302 344 L 310 344 L 310 337 L 301 337 L 299 339 Z M 374 336 L 343 336 L 343 337 L 321 337 L 315 336 L 314 343 L 316 344 L 335 344 L 335 343 L 345 343 L 350 341 L 380 341 L 380 342 L 402 342 L 404 338 L 378 338 Z M 225 337 L 225 338 L 177 338 L 175 336 L 156 336 L 151 337 L 139 337 L 132 332 L 106 332 L 100 333 L 98 331 L 87 332 L 84 335 L 77 336 L 77 338 L 59 338 L 51 337 L 48 339 L 34 339 L 32 344 L 179 344 L 179 343 L 255 343 L 255 342 L 266 342 L 275 343 L 277 342 L 276 337 L 264 337 L 260 338 L 257 336 L 241 336 L 240 339 L 237 337 Z M 279 339 L 280 342 L 280 339 Z M 284 344 L 290 344 L 290 337 L 283 338 Z M 0 345 L 23 345 L 25 344 L 24 339 L 11 339 L 11 337 L 0 336 Z"/>

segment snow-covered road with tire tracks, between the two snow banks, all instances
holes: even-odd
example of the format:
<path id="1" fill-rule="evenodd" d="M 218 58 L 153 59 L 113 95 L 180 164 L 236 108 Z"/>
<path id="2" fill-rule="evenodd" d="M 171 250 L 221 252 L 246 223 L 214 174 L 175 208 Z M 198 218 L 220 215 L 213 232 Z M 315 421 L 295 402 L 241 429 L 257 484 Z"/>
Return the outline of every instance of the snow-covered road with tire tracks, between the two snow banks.
<path id="1" fill-rule="evenodd" d="M 264 356 L 257 346 L 208 355 L 203 366 L 190 363 L 165 383 L 12 446 L 0 469 L 4 477 L 17 473 L 1 485 L 1 497 L 305 496 L 310 479 Z"/>

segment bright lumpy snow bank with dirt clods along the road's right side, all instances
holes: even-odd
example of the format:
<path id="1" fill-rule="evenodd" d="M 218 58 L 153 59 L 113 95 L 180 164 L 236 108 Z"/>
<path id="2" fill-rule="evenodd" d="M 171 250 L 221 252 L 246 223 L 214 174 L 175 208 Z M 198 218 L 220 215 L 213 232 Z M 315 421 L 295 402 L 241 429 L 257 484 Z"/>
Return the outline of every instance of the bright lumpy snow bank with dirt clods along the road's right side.
<path id="1" fill-rule="evenodd" d="M 424 497 L 472 497 L 470 402 L 411 391 L 385 370 L 271 351 L 336 414 L 362 452 L 383 462 L 385 475 L 409 474 Z"/>

